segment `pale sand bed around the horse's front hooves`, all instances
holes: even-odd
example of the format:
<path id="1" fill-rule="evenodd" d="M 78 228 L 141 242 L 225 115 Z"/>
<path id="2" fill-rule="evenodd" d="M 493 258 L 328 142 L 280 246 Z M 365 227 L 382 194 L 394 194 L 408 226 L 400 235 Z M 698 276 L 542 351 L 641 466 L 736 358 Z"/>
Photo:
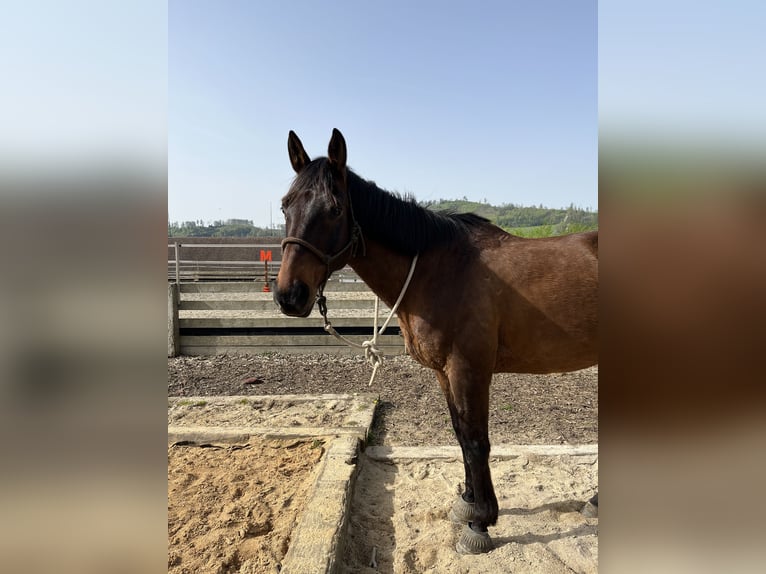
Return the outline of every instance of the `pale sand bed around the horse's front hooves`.
<path id="1" fill-rule="evenodd" d="M 360 465 L 344 574 L 598 571 L 598 519 L 578 512 L 596 491 L 597 455 L 493 460 L 500 517 L 490 529 L 495 549 L 480 556 L 455 552 L 462 527 L 447 518 L 463 481 L 462 462 L 391 463 L 362 455 Z M 369 566 L 373 548 L 377 568 Z"/>

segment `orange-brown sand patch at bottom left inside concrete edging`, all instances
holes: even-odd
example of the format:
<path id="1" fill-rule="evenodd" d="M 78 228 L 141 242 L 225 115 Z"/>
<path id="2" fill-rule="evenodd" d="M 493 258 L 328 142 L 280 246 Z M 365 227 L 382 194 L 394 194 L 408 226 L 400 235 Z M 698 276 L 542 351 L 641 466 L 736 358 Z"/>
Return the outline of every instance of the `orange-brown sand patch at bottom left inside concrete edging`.
<path id="1" fill-rule="evenodd" d="M 168 572 L 277 572 L 321 455 L 313 441 L 169 446 Z"/>

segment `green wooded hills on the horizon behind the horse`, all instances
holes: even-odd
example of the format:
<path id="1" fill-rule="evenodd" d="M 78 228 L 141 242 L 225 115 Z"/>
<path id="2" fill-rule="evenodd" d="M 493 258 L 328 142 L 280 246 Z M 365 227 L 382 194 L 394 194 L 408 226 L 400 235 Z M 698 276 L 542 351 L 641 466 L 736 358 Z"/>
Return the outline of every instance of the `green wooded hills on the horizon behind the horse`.
<path id="1" fill-rule="evenodd" d="M 579 231 L 598 229 L 598 211 L 570 205 L 566 209 L 549 207 L 522 207 L 512 203 L 500 206 L 464 199 L 421 201 L 420 205 L 434 211 L 476 213 L 514 235 L 523 237 L 549 237 Z M 248 219 L 226 221 L 168 222 L 168 237 L 284 237 L 284 224 L 273 229 L 256 227 Z"/>

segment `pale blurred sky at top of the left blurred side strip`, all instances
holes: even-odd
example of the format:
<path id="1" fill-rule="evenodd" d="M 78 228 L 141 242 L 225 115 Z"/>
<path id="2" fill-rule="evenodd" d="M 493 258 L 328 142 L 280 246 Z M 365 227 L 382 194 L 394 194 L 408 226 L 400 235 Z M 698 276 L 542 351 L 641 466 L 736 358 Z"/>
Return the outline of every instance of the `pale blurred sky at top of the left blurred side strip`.
<path id="1" fill-rule="evenodd" d="M 164 170 L 167 29 L 156 0 L 4 2 L 0 173 L 96 158 Z"/>

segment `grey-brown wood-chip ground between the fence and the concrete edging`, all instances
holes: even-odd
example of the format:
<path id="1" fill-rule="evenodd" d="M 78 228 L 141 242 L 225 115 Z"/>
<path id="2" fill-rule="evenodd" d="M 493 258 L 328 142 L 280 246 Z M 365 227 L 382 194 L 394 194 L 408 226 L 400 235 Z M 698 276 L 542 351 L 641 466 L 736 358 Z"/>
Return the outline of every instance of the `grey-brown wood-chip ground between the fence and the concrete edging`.
<path id="1" fill-rule="evenodd" d="M 327 354 L 219 355 L 168 359 L 168 396 L 371 392 L 380 396 L 372 443 L 457 444 L 447 403 L 430 369 L 386 357 L 371 387 L 362 357 Z M 490 390 L 492 444 L 598 442 L 598 368 L 553 375 L 496 374 Z"/>

